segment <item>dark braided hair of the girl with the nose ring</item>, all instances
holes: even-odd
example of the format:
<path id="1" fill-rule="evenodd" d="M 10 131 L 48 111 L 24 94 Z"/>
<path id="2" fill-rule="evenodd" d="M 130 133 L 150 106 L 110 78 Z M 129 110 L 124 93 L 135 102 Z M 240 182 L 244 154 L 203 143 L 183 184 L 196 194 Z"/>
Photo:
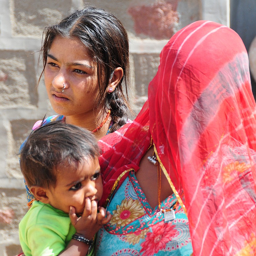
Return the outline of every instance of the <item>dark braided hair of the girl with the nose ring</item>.
<path id="1" fill-rule="evenodd" d="M 103 116 L 111 108 L 114 121 L 113 132 L 124 125 L 131 110 L 128 99 L 129 84 L 129 39 L 121 21 L 103 9 L 87 7 L 67 16 L 59 24 L 46 27 L 41 55 L 45 68 L 47 53 L 55 37 L 78 38 L 89 50 L 90 56 L 97 63 L 99 95 L 97 106 Z M 108 94 L 108 84 L 113 70 L 122 67 L 124 75 L 113 93 Z M 41 73 L 39 81 L 44 73 Z M 122 82 L 125 87 L 123 91 Z"/>

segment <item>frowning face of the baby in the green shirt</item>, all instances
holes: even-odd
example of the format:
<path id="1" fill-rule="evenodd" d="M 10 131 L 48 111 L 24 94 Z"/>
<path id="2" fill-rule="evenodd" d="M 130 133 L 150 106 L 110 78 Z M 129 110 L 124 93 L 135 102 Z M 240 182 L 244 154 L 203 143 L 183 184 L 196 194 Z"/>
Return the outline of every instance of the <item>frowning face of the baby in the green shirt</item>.
<path id="1" fill-rule="evenodd" d="M 63 212 L 70 206 L 76 213 L 84 211 L 85 198 L 97 203 L 102 197 L 103 185 L 98 158 L 85 158 L 77 166 L 61 166 L 57 170 L 56 187 L 49 189 L 49 204 Z"/>

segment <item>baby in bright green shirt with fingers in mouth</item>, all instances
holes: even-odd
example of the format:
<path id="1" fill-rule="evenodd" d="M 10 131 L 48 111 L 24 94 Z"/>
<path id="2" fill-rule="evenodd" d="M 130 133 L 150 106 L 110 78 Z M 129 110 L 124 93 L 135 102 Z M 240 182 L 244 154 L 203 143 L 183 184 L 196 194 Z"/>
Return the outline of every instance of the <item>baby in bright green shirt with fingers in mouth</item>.
<path id="1" fill-rule="evenodd" d="M 36 200 L 19 224 L 26 256 L 94 254 L 94 236 L 111 219 L 97 207 L 103 190 L 98 155 L 89 131 L 60 121 L 27 138 L 20 168 Z"/>

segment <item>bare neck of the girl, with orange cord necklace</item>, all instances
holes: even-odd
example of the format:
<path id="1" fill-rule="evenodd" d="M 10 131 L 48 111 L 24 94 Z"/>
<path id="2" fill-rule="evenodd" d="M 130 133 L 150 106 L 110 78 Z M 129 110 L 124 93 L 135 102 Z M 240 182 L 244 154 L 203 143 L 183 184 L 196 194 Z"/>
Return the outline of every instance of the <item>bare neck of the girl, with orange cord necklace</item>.
<path id="1" fill-rule="evenodd" d="M 103 122 L 106 115 L 107 113 L 104 114 L 101 118 L 97 118 L 98 120 L 96 119 L 94 114 L 90 114 L 90 115 L 84 114 L 83 116 L 81 115 L 66 116 L 66 123 L 83 127 L 89 131 L 93 131 L 97 126 L 99 126 Z M 106 135 L 110 122 L 111 122 L 111 116 L 108 118 L 106 123 L 103 124 L 102 127 L 98 129 L 98 131 L 93 132 L 97 140 L 101 139 L 103 136 Z"/>

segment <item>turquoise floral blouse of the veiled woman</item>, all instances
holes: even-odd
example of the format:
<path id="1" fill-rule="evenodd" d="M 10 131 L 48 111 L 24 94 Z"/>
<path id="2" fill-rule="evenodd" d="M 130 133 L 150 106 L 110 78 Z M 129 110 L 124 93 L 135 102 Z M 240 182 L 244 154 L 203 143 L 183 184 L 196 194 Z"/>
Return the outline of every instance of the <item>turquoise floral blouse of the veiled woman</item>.
<path id="1" fill-rule="evenodd" d="M 169 209 L 177 202 L 174 194 L 161 202 Z M 159 207 L 150 207 L 137 181 L 134 170 L 115 191 L 107 206 L 113 217 L 99 230 L 96 255 L 108 256 L 190 256 L 193 253 L 188 219 L 179 205 L 176 218 L 164 222 Z"/>

